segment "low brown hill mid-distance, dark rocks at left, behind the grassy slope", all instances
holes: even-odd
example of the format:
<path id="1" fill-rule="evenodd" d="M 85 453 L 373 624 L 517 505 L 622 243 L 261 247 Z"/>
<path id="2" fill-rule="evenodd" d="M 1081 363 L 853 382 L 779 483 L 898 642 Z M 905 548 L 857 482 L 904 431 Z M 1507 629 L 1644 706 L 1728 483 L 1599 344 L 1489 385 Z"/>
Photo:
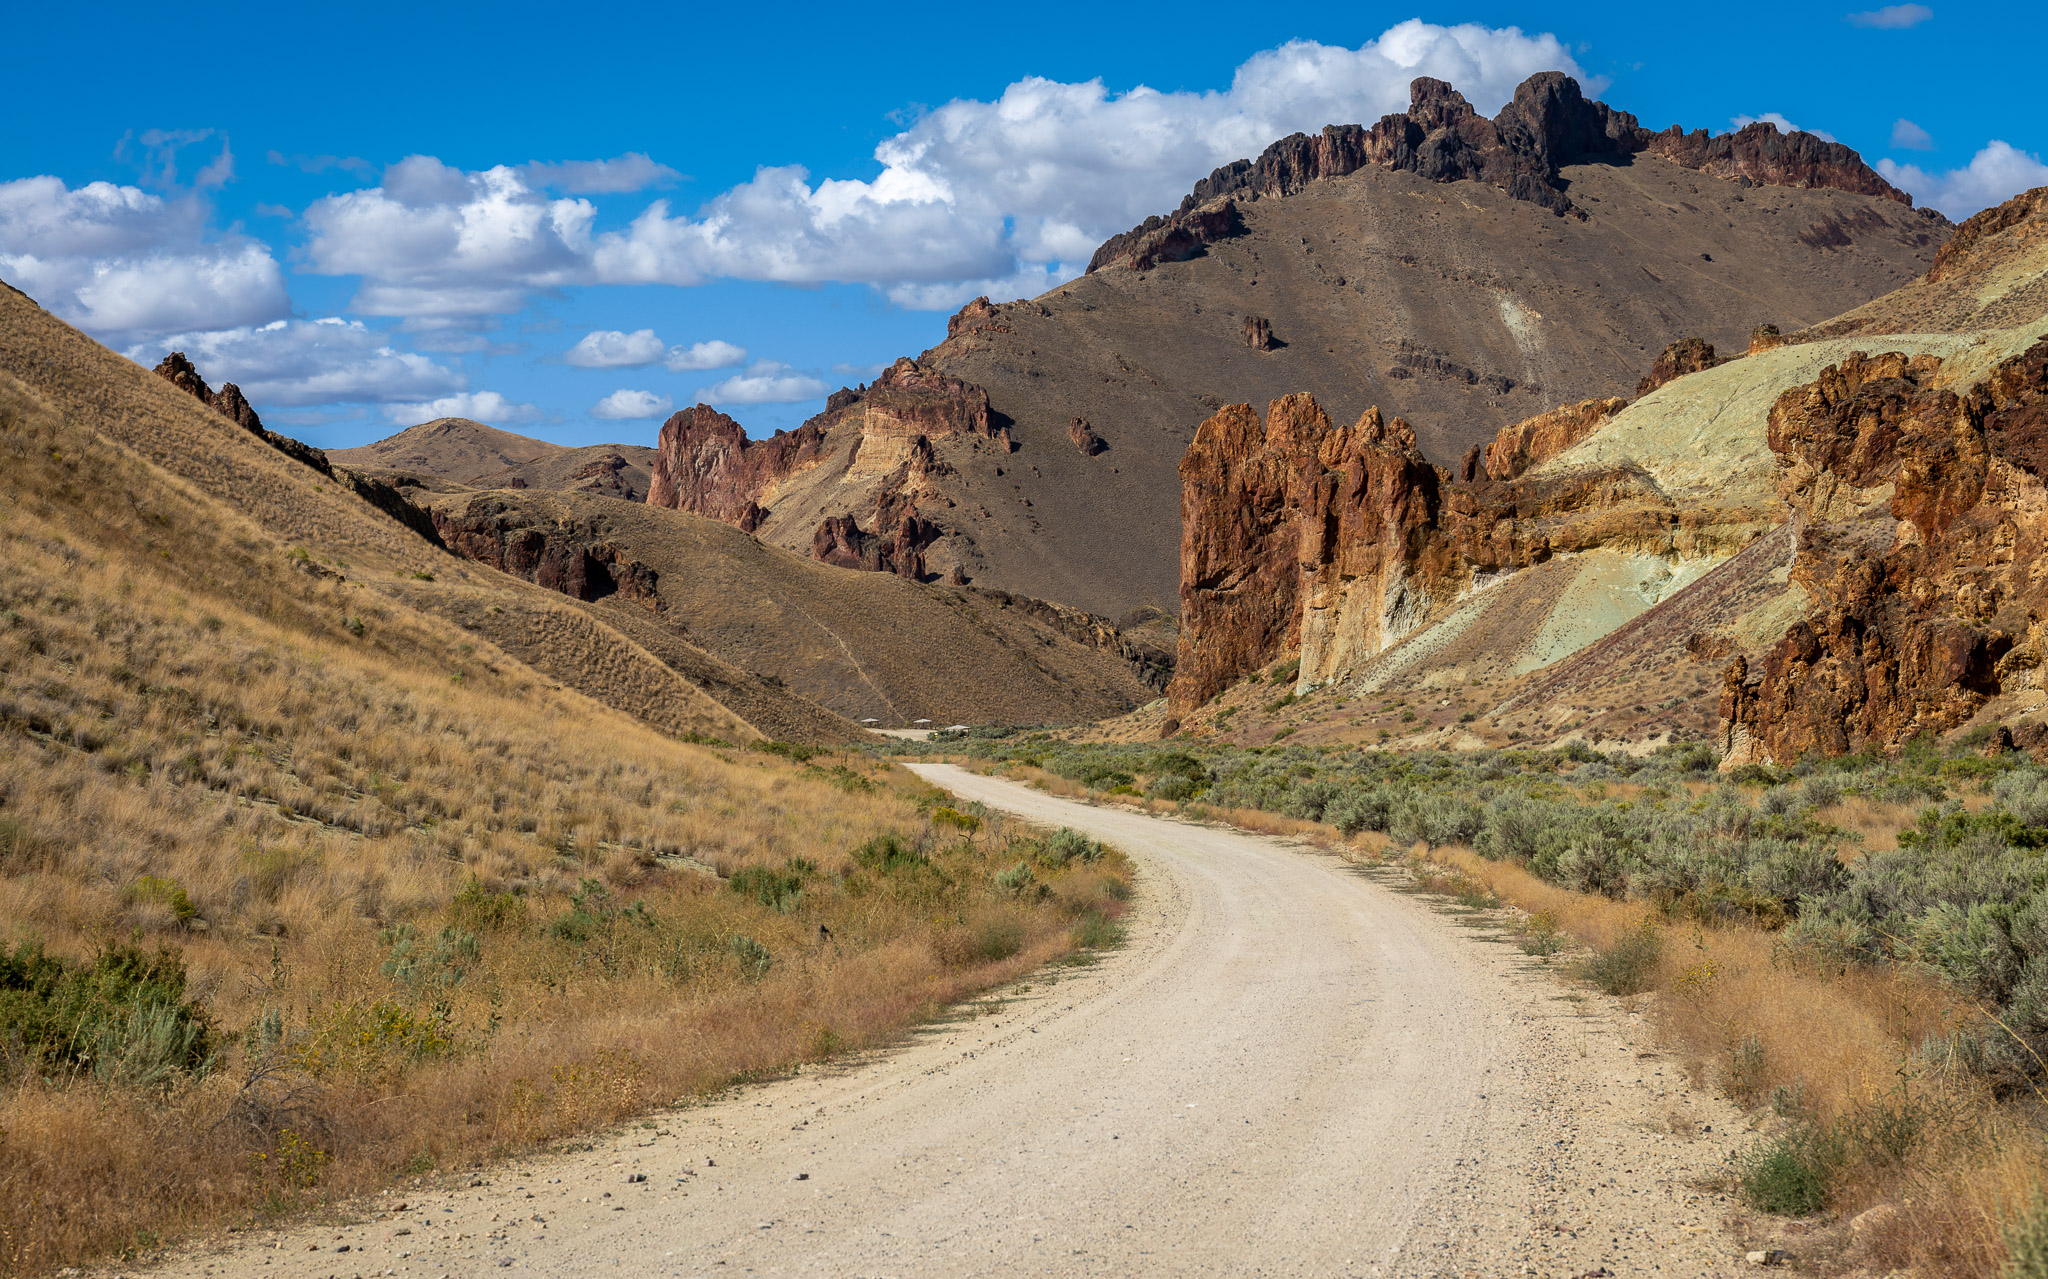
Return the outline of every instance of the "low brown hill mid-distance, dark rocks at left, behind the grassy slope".
<path id="1" fill-rule="evenodd" d="M 418 499 L 453 550 L 567 593 L 594 583 L 594 608 L 651 651 L 686 638 L 848 718 L 1073 722 L 1157 696 L 1128 645 L 1071 610 L 850 573 L 702 516 L 586 493 Z M 602 565 L 623 567 L 616 583 Z"/>

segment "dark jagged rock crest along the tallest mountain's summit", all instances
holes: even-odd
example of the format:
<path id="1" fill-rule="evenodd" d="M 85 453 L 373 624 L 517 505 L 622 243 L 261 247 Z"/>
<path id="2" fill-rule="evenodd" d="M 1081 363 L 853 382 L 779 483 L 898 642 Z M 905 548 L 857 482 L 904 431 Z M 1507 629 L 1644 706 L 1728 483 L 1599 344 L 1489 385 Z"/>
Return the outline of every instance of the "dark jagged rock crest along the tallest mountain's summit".
<path id="1" fill-rule="evenodd" d="M 1409 108 L 1364 125 L 1329 125 L 1319 135 L 1292 133 L 1257 160 L 1235 160 L 1194 184 L 1180 209 L 1149 217 L 1096 250 L 1087 270 L 1149 270 L 1184 262 L 1202 246 L 1243 229 L 1235 199 L 1284 196 L 1311 182 L 1341 178 L 1368 164 L 1430 182 L 1475 180 L 1556 215 L 1585 213 L 1567 194 L 1567 164 L 1624 162 L 1649 151 L 1716 178 L 1763 186 L 1833 188 L 1911 207 L 1913 196 L 1886 182 L 1849 147 L 1812 133 L 1778 133 L 1755 123 L 1718 137 L 1677 125 L 1651 133 L 1626 111 L 1585 98 L 1563 72 L 1540 72 L 1491 121 L 1450 84 L 1417 78 Z M 1939 215 L 1937 215 L 1939 217 Z"/>

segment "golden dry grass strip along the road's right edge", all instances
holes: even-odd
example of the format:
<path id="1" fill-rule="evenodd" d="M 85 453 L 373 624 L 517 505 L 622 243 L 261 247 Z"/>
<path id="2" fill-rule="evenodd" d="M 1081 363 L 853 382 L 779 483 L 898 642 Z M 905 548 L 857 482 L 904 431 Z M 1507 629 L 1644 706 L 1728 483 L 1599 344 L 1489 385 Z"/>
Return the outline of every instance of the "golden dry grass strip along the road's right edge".
<path id="1" fill-rule="evenodd" d="M 1657 927 L 1645 902 L 1577 894 L 1460 847 L 1427 857 L 1448 872 L 1440 890 L 1477 884 L 1593 950 Z M 2003 1228 L 2048 1181 L 2048 1146 L 2032 1105 L 1999 1105 L 1968 1072 L 1915 1060 L 1915 1046 L 1972 1017 L 1952 990 L 1911 968 L 1831 966 L 1774 933 L 1690 925 L 1663 929 L 1649 990 L 1694 1083 L 1751 1107 L 1765 1132 L 1782 1128 L 1772 1113 L 1788 1107 L 1821 1128 L 1913 1119 L 1903 1160 L 1851 1158 L 1841 1171 L 1839 1218 L 1880 1203 L 1894 1214 L 1855 1236 L 1860 1263 L 1958 1279 L 2003 1273 Z"/>

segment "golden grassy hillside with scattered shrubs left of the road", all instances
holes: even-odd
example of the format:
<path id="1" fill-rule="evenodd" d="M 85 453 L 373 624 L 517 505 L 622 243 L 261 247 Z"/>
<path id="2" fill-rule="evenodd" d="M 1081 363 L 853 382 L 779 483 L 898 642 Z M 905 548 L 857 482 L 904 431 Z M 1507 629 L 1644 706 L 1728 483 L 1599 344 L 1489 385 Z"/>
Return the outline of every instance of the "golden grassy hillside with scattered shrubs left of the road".
<path id="1" fill-rule="evenodd" d="M 518 1150 L 1108 935 L 1114 857 L 686 745 L 760 735 L 18 295 L 0 323 L 0 1271 Z"/>

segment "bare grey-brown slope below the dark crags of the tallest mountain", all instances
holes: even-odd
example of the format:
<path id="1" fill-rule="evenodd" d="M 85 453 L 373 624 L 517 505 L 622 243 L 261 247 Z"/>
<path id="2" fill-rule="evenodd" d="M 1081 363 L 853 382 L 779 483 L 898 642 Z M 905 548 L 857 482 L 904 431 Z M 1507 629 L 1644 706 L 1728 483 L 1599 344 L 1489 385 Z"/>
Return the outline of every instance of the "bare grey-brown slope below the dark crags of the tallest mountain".
<path id="1" fill-rule="evenodd" d="M 926 352 L 987 387 L 1008 458 L 948 454 L 979 581 L 1116 616 L 1171 608 L 1180 481 L 1225 403 L 1309 391 L 1337 422 L 1407 417 L 1432 460 L 1552 405 L 1630 395 L 1665 344 L 1819 323 L 1896 289 L 1944 229 L 1892 201 L 1751 186 L 1638 156 L 1567 166 L 1587 221 L 1483 182 L 1364 168 L 1243 203 L 1188 262 L 1110 266 Z M 1251 350 L 1243 321 L 1280 344 Z M 1083 454 L 1075 417 L 1108 442 Z M 1001 475 L 995 469 L 1001 467 Z"/>

